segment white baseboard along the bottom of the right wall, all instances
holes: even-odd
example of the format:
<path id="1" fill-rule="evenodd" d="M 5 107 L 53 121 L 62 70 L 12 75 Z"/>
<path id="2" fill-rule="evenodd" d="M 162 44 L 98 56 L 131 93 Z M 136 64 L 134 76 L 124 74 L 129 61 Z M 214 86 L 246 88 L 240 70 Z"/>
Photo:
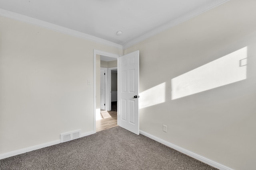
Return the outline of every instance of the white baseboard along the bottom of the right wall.
<path id="1" fill-rule="evenodd" d="M 226 167 L 226 166 L 224 166 L 224 165 L 222 165 L 222 164 L 219 164 L 219 163 L 217 163 L 217 162 L 214 162 L 214 161 L 212 161 L 212 160 L 210 160 L 210 159 L 208 159 L 208 158 L 204 158 L 203 156 L 200 156 L 200 155 L 198 155 L 198 154 L 195 154 L 195 153 L 193 153 L 193 152 L 190 152 L 189 150 L 183 149 L 183 148 L 178 147 L 178 146 L 176 146 L 176 145 L 174 145 L 174 144 L 172 144 L 172 143 L 169 143 L 169 142 L 167 142 L 167 141 L 164 141 L 164 140 L 162 140 L 162 139 L 160 139 L 160 138 L 158 138 L 158 137 L 155 137 L 155 136 L 153 136 L 153 135 L 150 135 L 150 134 L 148 134 L 148 133 L 146 133 L 146 132 L 144 132 L 144 131 L 141 131 L 141 130 L 140 130 L 140 134 L 142 134 L 142 135 L 144 135 L 144 136 L 146 136 L 146 137 L 149 137 L 150 139 L 153 139 L 154 141 L 157 141 L 157 142 L 159 142 L 159 143 L 162 143 L 162 144 L 164 144 L 164 145 L 166 145 L 166 146 L 168 146 L 168 147 L 170 147 L 170 148 L 172 148 L 172 149 L 175 149 L 175 150 L 177 150 L 177 151 L 179 151 L 179 152 L 182 152 L 182 153 L 184 153 L 184 154 L 186 154 L 186 155 L 188 155 L 188 156 L 190 156 L 190 157 L 192 157 L 192 158 L 195 158 L 195 159 L 197 159 L 197 160 L 199 160 L 199 161 L 201 161 L 201 162 L 204 162 L 204 163 L 206 163 L 206 164 L 208 164 L 208 165 L 210 165 L 210 166 L 213 166 L 214 168 L 218 168 L 218 169 L 220 169 L 220 170 L 233 170 L 233 169 L 228 168 L 228 167 Z"/>

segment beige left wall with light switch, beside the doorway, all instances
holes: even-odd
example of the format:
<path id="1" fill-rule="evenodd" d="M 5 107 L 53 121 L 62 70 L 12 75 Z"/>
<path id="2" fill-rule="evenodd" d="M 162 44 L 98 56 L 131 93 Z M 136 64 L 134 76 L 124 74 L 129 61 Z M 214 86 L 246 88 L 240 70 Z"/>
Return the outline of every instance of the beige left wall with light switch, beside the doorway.
<path id="1" fill-rule="evenodd" d="M 92 132 L 93 50 L 122 50 L 4 17 L 0 25 L 0 154 Z"/>

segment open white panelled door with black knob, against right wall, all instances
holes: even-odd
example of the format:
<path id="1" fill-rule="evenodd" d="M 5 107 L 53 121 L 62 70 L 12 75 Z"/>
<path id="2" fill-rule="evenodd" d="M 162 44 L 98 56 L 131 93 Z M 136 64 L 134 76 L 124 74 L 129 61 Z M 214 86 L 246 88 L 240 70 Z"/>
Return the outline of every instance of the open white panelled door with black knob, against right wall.
<path id="1" fill-rule="evenodd" d="M 119 126 L 139 135 L 139 51 L 120 57 L 119 70 Z"/>

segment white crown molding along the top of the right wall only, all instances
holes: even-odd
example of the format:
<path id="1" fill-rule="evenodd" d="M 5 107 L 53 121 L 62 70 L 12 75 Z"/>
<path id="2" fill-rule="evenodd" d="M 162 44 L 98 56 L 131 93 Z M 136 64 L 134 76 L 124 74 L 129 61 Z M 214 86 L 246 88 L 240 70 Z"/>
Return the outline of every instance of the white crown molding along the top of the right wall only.
<path id="1" fill-rule="evenodd" d="M 190 11 L 178 18 L 175 18 L 174 20 L 171 20 L 169 22 L 167 22 L 166 24 L 160 26 L 160 27 L 157 27 L 156 29 L 153 29 L 147 33 L 144 33 L 143 35 L 140 35 L 138 37 L 136 37 L 135 39 L 131 39 L 130 41 L 126 41 L 125 43 L 122 43 L 123 45 L 123 49 L 127 49 L 129 47 L 132 47 L 133 45 L 136 45 L 137 43 L 140 43 L 150 37 L 153 37 L 154 35 L 162 32 L 162 31 L 165 31 L 167 29 L 170 29 L 176 25 L 178 25 L 179 23 L 182 23 L 186 20 L 189 20 L 191 18 L 194 18 L 195 16 L 198 16 L 199 14 L 202 14 L 216 6 L 219 6 L 225 2 L 228 2 L 229 0 L 214 0 L 212 1 L 211 3 L 208 3 L 207 5 L 204 5 L 204 6 L 200 6 L 198 8 L 196 8 L 195 10 L 193 11 Z M 206 9 L 204 11 L 202 11 L 201 9 Z"/>

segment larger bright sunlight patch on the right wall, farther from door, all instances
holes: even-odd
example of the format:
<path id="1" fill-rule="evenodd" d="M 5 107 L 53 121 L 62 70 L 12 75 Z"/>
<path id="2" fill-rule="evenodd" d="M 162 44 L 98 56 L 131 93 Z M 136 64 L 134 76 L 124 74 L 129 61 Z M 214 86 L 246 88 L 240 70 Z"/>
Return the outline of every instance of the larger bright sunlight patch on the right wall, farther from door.
<path id="1" fill-rule="evenodd" d="M 172 79 L 172 100 L 246 79 L 247 47 Z"/>

